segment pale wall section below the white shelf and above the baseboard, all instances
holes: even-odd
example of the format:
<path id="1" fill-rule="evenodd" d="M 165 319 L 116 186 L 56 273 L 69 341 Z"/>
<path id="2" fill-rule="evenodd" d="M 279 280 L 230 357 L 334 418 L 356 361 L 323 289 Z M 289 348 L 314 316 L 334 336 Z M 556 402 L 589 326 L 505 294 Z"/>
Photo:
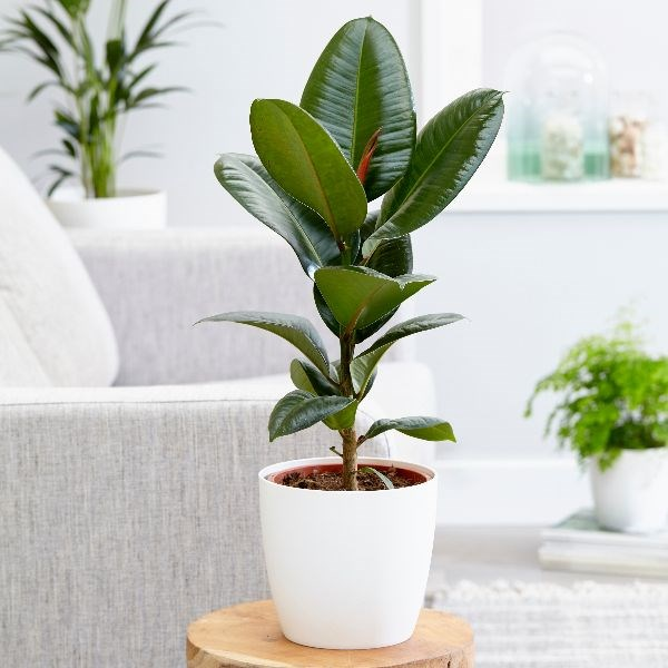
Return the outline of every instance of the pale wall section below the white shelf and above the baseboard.
<path id="1" fill-rule="evenodd" d="M 456 428 L 449 458 L 543 458 L 553 399 L 522 418 L 536 382 L 579 337 L 608 328 L 622 306 L 646 322 L 652 350 L 668 343 L 668 214 L 449 213 L 413 235 L 420 272 L 439 281 L 418 313 L 469 320 L 421 335 L 440 414 Z"/>

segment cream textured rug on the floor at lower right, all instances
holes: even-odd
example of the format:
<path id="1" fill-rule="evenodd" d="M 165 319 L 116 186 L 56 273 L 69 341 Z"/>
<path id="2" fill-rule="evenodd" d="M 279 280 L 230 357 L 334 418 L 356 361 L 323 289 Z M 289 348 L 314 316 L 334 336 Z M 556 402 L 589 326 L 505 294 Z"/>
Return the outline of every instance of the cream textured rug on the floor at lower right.
<path id="1" fill-rule="evenodd" d="M 477 668 L 668 668 L 668 584 L 462 581 L 438 609 L 469 620 Z"/>

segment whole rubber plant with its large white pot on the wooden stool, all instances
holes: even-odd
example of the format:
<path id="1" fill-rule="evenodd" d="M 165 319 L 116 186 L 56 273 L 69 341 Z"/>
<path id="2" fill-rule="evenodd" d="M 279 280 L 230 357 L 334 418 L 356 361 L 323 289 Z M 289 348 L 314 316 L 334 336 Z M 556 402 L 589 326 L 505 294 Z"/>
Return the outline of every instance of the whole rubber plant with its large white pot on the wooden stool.
<path id="1" fill-rule="evenodd" d="M 303 317 L 235 312 L 205 318 L 266 330 L 302 353 L 291 365 L 295 390 L 272 412 L 272 441 L 321 421 L 341 435 L 334 456 L 259 472 L 269 583 L 293 641 L 372 648 L 402 642 L 414 630 L 431 560 L 436 475 L 357 453 L 389 430 L 432 441 L 454 435 L 448 422 L 424 416 L 377 420 L 356 433 L 355 415 L 395 342 L 461 318 L 418 316 L 369 343 L 402 302 L 435 281 L 413 274 L 410 234 L 464 187 L 502 116 L 499 91 L 473 90 L 416 135 L 396 43 L 381 23 L 356 19 L 323 51 L 299 105 L 253 102 L 258 157 L 226 154 L 215 165 L 223 187 L 292 246 L 341 354 L 330 360 Z M 369 210 L 381 196 L 380 210 Z"/>

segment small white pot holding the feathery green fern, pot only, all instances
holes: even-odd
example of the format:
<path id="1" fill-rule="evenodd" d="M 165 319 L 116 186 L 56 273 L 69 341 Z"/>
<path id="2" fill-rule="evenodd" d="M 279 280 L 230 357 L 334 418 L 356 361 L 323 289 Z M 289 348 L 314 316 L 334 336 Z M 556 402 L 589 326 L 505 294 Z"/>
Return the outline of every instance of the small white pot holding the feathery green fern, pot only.
<path id="1" fill-rule="evenodd" d="M 590 465 L 596 517 L 607 529 L 651 533 L 668 523 L 668 448 L 622 450 L 607 470 Z"/>

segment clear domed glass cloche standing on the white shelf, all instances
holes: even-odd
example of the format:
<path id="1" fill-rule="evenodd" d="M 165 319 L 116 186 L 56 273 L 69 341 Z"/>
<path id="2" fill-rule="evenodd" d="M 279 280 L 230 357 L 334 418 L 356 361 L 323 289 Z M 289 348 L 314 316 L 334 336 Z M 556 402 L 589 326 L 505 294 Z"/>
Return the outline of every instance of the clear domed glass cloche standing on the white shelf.
<path id="1" fill-rule="evenodd" d="M 510 179 L 608 177 L 608 80 L 591 45 L 566 33 L 530 42 L 510 59 L 507 87 Z"/>

